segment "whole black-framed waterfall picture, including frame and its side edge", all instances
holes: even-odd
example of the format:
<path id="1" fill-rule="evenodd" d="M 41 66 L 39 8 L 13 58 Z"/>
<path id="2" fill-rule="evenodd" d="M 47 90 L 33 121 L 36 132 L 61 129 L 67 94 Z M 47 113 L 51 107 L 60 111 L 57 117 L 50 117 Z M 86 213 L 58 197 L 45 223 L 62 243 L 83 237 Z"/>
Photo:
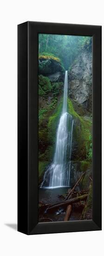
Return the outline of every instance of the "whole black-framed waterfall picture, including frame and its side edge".
<path id="1" fill-rule="evenodd" d="M 101 26 L 18 25 L 18 231 L 101 230 Z"/>

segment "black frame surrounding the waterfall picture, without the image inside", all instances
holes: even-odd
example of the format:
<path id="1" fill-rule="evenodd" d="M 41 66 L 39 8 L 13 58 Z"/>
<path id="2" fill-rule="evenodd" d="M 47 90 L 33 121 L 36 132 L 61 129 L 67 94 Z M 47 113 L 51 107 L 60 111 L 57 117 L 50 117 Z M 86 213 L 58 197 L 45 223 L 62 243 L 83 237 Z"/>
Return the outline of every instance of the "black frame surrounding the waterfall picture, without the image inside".
<path id="1" fill-rule="evenodd" d="M 101 230 L 101 26 L 27 21 L 18 25 L 18 231 L 27 235 Z M 92 220 L 38 223 L 38 34 L 92 36 Z"/>

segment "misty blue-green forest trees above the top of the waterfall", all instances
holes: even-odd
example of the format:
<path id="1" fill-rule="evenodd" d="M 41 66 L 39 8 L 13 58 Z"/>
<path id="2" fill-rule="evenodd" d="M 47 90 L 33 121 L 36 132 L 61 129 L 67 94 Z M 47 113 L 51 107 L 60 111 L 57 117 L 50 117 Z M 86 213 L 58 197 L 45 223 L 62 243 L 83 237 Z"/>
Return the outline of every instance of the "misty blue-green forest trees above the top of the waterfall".
<path id="1" fill-rule="evenodd" d="M 39 55 L 58 57 L 65 70 L 76 61 L 83 48 L 91 50 L 92 38 L 58 34 L 39 34 Z"/>

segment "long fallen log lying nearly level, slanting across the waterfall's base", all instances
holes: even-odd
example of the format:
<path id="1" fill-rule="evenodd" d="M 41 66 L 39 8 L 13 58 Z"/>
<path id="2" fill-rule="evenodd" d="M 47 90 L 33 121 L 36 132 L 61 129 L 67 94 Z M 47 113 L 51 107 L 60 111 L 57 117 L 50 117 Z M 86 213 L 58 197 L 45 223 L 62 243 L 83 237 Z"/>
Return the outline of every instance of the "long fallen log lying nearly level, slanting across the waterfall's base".
<path id="1" fill-rule="evenodd" d="M 54 210 L 54 209 L 58 209 L 59 207 L 66 208 L 69 204 L 79 202 L 79 201 L 84 201 L 84 200 L 87 199 L 87 196 L 88 196 L 88 194 L 84 194 L 84 195 L 80 195 L 76 198 L 72 198 L 72 199 L 64 201 L 64 202 L 53 204 L 52 206 L 50 206 L 46 209 L 46 212 L 49 212 L 49 211 Z"/>

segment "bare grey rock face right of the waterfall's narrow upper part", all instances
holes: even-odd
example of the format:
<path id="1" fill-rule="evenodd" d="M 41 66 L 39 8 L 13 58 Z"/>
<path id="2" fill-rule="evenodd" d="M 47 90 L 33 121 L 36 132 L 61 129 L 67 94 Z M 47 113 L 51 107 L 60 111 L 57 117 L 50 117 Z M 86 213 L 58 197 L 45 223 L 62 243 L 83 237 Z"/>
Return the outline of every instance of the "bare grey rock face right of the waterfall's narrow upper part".
<path id="1" fill-rule="evenodd" d="M 69 97 L 82 106 L 92 108 L 92 52 L 83 49 L 68 71 Z"/>

